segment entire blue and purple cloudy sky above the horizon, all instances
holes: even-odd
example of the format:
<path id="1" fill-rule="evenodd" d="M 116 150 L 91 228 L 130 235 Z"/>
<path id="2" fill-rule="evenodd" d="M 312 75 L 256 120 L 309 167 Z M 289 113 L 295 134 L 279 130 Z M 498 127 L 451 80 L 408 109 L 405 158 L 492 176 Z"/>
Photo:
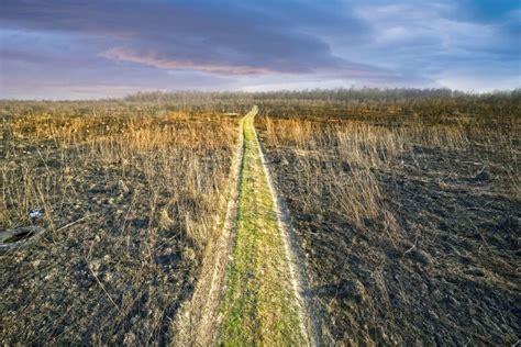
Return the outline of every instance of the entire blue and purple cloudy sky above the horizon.
<path id="1" fill-rule="evenodd" d="M 521 87 L 518 0 L 0 0 L 0 99 Z"/>

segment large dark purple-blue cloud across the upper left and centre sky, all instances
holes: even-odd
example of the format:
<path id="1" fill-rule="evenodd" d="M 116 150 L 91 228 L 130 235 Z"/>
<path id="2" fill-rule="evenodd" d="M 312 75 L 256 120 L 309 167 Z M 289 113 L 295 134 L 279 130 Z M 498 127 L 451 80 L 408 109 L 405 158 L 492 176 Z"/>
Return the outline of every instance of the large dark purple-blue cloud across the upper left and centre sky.
<path id="1" fill-rule="evenodd" d="M 354 67 L 333 56 L 319 37 L 296 30 L 302 19 L 319 26 L 309 13 L 320 8 L 290 2 L 269 10 L 258 4 L 8 0 L 1 19 L 12 27 L 102 35 L 112 45 L 106 57 L 159 68 L 264 74 Z M 342 24 L 333 11 L 320 13 L 334 26 Z"/>

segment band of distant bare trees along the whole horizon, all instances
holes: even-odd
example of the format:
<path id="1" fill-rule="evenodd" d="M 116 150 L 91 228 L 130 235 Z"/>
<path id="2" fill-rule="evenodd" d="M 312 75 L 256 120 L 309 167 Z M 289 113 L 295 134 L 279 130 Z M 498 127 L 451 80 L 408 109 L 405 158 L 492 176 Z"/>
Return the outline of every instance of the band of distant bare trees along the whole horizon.
<path id="1" fill-rule="evenodd" d="M 450 89 L 334 89 L 269 92 L 138 92 L 121 99 L 78 101 L 0 100 L 0 114 L 54 112 L 68 114 L 163 114 L 168 111 L 247 112 L 258 104 L 267 114 L 342 109 L 346 115 L 366 111 L 379 114 L 451 116 L 472 114 L 484 117 L 520 117 L 521 89 L 491 93 L 465 93 Z M 324 108 L 328 107 L 328 108 Z"/>

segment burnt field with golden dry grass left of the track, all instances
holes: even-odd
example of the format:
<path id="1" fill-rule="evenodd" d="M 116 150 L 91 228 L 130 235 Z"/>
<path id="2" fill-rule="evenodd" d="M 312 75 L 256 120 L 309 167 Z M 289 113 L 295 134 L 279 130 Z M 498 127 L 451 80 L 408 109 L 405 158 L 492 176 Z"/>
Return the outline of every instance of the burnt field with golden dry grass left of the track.
<path id="1" fill-rule="evenodd" d="M 237 120 L 123 103 L 3 103 L 4 344 L 168 342 L 221 214 Z M 27 212 L 41 209 L 32 221 Z"/>

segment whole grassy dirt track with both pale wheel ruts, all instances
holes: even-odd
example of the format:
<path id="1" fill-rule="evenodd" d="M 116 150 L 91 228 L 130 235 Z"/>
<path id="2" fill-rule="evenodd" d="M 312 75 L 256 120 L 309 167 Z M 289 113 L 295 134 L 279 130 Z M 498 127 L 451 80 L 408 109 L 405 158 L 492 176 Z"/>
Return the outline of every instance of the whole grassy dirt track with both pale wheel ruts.
<path id="1" fill-rule="evenodd" d="M 241 121 L 226 220 L 177 322 L 176 345 L 315 344 L 289 219 L 255 132 L 257 111 Z"/>

